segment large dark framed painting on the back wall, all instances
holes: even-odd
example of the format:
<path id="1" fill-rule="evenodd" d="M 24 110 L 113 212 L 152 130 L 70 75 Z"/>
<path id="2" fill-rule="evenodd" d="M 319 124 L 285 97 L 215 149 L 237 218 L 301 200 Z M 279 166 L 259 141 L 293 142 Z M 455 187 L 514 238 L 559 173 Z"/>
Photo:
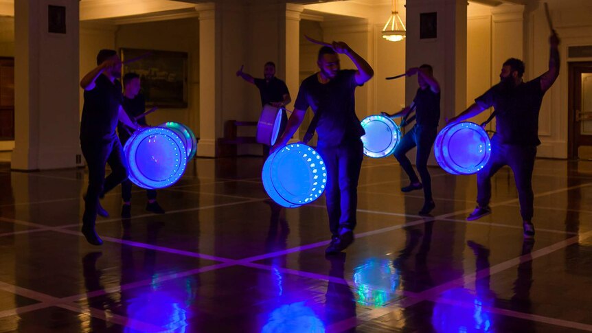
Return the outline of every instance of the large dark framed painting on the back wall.
<path id="1" fill-rule="evenodd" d="M 146 106 L 187 107 L 187 53 L 122 48 L 122 74 L 140 76 Z M 126 60 L 137 59 L 125 63 Z M 122 82 L 123 84 L 123 82 Z"/>

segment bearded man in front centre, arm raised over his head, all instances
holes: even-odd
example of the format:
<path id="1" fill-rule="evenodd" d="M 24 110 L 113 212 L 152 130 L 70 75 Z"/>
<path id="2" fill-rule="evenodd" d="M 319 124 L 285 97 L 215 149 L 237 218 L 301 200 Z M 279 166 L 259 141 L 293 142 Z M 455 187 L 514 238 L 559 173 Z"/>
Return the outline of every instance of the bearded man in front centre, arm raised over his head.
<path id="1" fill-rule="evenodd" d="M 338 54 L 348 56 L 357 70 L 341 70 Z M 364 156 L 360 139 L 364 130 L 356 116 L 354 92 L 356 87 L 374 76 L 374 71 L 343 42 L 321 47 L 317 65 L 320 71 L 300 84 L 286 131 L 277 139 L 271 152 L 286 146 L 310 106 L 315 117 L 304 143 L 310 140 L 316 129 L 319 135 L 317 150 L 326 163 L 328 177 L 325 196 L 332 239 L 326 253 L 339 253 L 354 241 L 358 178 Z"/>

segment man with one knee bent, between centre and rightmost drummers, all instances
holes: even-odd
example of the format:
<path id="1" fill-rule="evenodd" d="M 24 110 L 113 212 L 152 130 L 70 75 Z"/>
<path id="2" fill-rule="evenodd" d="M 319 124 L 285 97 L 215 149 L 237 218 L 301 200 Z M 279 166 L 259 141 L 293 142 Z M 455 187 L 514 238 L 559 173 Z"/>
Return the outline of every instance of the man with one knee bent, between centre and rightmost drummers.
<path id="1" fill-rule="evenodd" d="M 411 68 L 405 73 L 407 76 L 418 75 L 418 88 L 415 98 L 411 105 L 402 109 L 398 113 L 387 117 L 403 117 L 404 122 L 411 111 L 415 110 L 415 126 L 409 130 L 401 139 L 395 148 L 394 157 L 399 161 L 401 168 L 409 176 L 409 185 L 401 187 L 402 192 L 411 192 L 413 190 L 424 189 L 424 206 L 419 211 L 420 215 L 428 215 L 435 208 L 432 198 L 431 178 L 428 171 L 428 159 L 432 150 L 435 137 L 437 135 L 437 126 L 440 122 L 440 84 L 433 77 L 431 65 L 421 65 Z M 422 183 L 417 174 L 413 171 L 411 161 L 407 158 L 407 152 L 417 146 L 415 154 L 415 166 L 418 168 Z"/>

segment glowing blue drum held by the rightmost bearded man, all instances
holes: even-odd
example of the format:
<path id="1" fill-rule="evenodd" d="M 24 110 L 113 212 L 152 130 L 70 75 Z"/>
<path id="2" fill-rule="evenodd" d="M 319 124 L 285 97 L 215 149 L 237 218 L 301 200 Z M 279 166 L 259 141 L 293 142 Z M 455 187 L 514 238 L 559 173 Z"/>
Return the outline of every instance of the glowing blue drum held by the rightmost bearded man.
<path id="1" fill-rule="evenodd" d="M 451 174 L 474 174 L 491 156 L 489 136 L 473 122 L 448 125 L 438 133 L 434 154 L 440 167 Z"/>

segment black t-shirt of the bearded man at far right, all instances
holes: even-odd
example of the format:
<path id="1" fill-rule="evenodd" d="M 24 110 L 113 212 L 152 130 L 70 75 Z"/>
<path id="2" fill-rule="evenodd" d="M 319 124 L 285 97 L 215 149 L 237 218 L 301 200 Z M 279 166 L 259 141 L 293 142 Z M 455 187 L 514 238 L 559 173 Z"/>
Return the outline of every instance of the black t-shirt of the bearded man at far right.
<path id="1" fill-rule="evenodd" d="M 545 91 L 540 89 L 540 77 L 522 82 L 516 87 L 498 83 L 475 102 L 481 108 L 493 106 L 496 113 L 495 131 L 501 143 L 538 146 L 538 113 Z"/>

